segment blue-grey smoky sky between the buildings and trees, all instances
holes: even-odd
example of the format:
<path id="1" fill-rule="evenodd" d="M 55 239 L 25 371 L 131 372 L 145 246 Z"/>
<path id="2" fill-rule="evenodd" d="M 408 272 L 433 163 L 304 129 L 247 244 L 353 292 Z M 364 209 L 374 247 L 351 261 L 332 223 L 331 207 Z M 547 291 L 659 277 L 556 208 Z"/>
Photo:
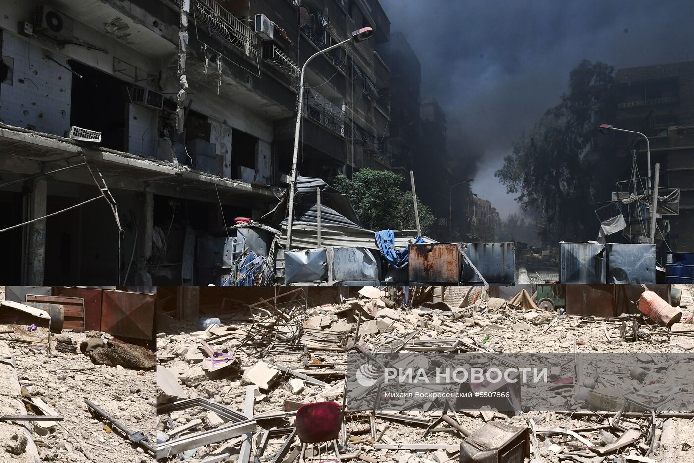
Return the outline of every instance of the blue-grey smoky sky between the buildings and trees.
<path id="1" fill-rule="evenodd" d="M 494 170 L 559 103 L 580 60 L 616 69 L 694 60 L 694 0 L 380 1 L 422 63 L 422 97 L 446 111 L 454 159 L 502 218 L 518 206 Z"/>

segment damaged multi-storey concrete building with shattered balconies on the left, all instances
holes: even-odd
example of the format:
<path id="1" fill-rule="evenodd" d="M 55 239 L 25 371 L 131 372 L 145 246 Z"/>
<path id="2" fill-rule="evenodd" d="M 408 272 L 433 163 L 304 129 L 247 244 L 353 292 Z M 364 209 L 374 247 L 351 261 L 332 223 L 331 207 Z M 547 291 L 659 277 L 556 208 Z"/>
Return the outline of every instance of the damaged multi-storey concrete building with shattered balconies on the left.
<path id="1" fill-rule="evenodd" d="M 208 283 L 287 185 L 301 63 L 364 26 L 307 70 L 299 170 L 382 168 L 376 0 L 2 3 L 3 283 Z"/>

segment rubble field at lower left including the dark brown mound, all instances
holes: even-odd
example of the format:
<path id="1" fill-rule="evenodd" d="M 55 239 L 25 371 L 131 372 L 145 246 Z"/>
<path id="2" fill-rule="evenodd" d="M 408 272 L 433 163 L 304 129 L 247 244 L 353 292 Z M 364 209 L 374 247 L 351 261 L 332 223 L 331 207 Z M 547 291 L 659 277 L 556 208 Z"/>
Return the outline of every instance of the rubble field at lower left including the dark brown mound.
<path id="1" fill-rule="evenodd" d="M 13 337 L 26 339 L 29 343 L 0 341 L 0 345 L 15 359 L 15 375 L 21 394 L 21 397 L 0 394 L 0 414 L 27 414 L 28 410 L 28 414 L 62 416 L 64 420 L 0 423 L 1 462 L 35 461 L 28 451 L 12 452 L 6 444 L 18 430 L 21 434 L 22 426 L 31 433 L 36 455 L 42 462 L 155 461 L 142 447 L 131 444 L 112 423 L 90 413 L 85 404 L 85 399 L 91 400 L 130 430 L 143 431 L 153 442 L 153 354 L 101 332 L 63 331 L 51 336 L 50 348 L 47 348 L 42 344 L 48 339 L 46 328 L 38 327 L 27 332 L 22 325 L 0 325 L 0 331 L 6 330 L 13 330 Z M 85 346 L 86 343 L 98 345 L 99 348 L 83 353 L 83 343 Z M 115 345 L 118 347 L 113 347 Z M 19 400 L 26 404 L 26 409 L 21 412 L 17 409 Z"/>

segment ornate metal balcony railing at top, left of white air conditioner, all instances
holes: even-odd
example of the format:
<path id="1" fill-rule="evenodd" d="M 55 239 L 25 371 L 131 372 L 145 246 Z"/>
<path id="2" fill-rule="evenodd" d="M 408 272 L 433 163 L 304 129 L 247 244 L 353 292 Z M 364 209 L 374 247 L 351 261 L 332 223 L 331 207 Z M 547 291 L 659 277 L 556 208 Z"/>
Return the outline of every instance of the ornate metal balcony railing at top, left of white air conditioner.
<path id="1" fill-rule="evenodd" d="M 251 58 L 257 56 L 255 32 L 222 8 L 217 1 L 196 0 L 194 16 L 196 21 L 206 24 L 212 32 L 221 35 L 244 54 Z"/>

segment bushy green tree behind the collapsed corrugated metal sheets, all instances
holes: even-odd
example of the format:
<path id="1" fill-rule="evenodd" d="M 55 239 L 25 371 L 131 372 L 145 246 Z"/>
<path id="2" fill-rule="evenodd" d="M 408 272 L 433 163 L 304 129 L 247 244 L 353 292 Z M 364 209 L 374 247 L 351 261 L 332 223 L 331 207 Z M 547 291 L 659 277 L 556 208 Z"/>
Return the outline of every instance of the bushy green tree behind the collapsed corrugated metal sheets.
<path id="1" fill-rule="evenodd" d="M 416 229 L 412 192 L 400 188 L 402 181 L 403 177 L 389 170 L 362 169 L 352 179 L 339 174 L 332 184 L 349 197 L 365 228 L 412 230 Z M 420 198 L 417 207 L 422 234 L 427 234 L 434 216 Z"/>

